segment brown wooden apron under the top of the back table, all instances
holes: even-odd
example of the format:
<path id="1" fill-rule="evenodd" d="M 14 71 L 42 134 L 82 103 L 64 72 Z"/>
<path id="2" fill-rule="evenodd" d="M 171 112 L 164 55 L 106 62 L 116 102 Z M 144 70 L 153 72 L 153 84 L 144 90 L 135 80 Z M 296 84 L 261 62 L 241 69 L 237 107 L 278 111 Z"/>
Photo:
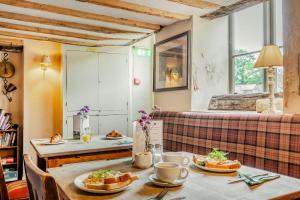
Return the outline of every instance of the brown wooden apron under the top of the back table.
<path id="1" fill-rule="evenodd" d="M 48 159 L 48 168 L 60 167 L 64 164 L 87 162 L 93 160 L 112 160 L 118 158 L 131 157 L 132 152 L 128 150 L 109 151 L 101 153 L 90 153 L 72 156 L 55 157 Z"/>

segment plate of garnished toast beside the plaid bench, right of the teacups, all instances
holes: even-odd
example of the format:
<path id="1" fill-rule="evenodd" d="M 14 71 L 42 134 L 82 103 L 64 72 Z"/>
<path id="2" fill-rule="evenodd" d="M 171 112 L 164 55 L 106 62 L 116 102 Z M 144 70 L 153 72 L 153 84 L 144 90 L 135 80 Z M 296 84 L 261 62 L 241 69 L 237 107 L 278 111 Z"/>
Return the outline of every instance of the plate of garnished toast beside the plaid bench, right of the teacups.
<path id="1" fill-rule="evenodd" d="M 241 168 L 238 160 L 229 160 L 227 154 L 218 149 L 213 149 L 207 156 L 194 155 L 194 165 L 210 172 L 231 173 Z"/>

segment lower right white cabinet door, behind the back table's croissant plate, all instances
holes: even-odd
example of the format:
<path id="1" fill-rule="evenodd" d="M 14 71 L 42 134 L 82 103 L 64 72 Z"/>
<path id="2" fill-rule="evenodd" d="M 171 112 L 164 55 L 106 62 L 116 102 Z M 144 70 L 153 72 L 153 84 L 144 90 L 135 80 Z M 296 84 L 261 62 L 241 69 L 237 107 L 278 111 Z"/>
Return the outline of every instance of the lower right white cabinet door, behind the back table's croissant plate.
<path id="1" fill-rule="evenodd" d="M 127 135 L 127 128 L 127 115 L 105 115 L 99 117 L 100 135 L 106 135 L 112 130 L 117 130 Z"/>

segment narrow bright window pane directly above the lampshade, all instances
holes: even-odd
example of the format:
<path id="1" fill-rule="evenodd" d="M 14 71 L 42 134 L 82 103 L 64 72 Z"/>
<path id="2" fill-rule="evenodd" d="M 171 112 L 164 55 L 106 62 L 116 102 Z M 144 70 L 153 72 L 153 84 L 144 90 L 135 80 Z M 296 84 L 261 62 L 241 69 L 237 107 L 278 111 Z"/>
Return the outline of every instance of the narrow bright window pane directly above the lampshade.
<path id="1" fill-rule="evenodd" d="M 275 1 L 276 44 L 283 46 L 282 0 Z"/>

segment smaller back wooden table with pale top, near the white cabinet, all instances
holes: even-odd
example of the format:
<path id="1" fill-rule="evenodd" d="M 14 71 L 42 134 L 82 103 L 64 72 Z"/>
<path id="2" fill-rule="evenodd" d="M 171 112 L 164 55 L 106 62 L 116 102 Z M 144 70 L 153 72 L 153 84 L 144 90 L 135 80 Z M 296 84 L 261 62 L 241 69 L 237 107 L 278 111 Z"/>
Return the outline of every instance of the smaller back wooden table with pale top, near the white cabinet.
<path id="1" fill-rule="evenodd" d="M 132 138 L 129 137 L 121 140 L 105 140 L 97 136 L 88 144 L 80 140 L 66 140 L 64 144 L 45 145 L 47 140 L 49 141 L 49 139 L 30 141 L 37 153 L 38 167 L 44 171 L 69 163 L 118 159 L 132 155 Z M 126 141 L 129 143 L 124 144 Z"/>

